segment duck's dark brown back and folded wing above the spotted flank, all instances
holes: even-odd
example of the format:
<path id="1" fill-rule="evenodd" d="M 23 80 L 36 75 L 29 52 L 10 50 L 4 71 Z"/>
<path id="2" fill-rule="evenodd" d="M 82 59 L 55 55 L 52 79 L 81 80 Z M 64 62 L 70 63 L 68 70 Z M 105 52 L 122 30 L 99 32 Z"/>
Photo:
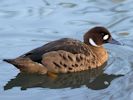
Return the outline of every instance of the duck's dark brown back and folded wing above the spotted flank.
<path id="1" fill-rule="evenodd" d="M 73 54 L 88 54 L 88 49 L 88 46 L 81 41 L 63 38 L 31 50 L 20 57 L 26 57 L 30 58 L 33 61 L 40 62 L 42 59 L 42 55 L 50 51 L 64 50 Z"/>

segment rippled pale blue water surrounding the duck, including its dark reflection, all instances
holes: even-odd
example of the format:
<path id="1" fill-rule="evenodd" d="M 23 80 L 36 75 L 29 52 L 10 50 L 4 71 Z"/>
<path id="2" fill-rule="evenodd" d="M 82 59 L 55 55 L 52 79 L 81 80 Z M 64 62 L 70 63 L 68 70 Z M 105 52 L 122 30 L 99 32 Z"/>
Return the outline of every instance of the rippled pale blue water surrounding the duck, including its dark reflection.
<path id="1" fill-rule="evenodd" d="M 132 100 L 132 0 L 0 0 L 0 100 Z M 62 37 L 82 40 L 107 27 L 123 46 L 106 44 L 104 68 L 48 78 L 23 75 L 3 58 L 17 57 Z"/>

